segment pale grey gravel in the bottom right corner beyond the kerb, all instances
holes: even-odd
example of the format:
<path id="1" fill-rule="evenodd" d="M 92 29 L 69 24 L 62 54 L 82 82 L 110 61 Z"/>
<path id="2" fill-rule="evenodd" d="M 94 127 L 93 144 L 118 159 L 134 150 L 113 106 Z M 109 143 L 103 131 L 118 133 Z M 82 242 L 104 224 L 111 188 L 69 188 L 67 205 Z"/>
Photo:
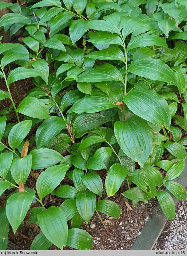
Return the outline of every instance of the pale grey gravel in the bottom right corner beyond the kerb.
<path id="1" fill-rule="evenodd" d="M 175 219 L 166 223 L 154 250 L 187 250 L 187 200 L 176 205 Z"/>

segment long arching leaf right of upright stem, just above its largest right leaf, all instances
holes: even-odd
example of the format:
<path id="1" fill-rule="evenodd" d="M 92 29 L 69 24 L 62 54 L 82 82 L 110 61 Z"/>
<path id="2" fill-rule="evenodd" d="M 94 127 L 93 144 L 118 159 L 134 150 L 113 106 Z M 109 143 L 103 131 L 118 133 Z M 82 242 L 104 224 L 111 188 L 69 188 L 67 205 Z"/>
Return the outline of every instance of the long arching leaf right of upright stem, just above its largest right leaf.
<path id="1" fill-rule="evenodd" d="M 173 70 L 161 60 L 153 59 L 151 57 L 133 60 L 128 68 L 128 72 L 154 81 L 159 80 L 168 83 L 176 83 Z"/>

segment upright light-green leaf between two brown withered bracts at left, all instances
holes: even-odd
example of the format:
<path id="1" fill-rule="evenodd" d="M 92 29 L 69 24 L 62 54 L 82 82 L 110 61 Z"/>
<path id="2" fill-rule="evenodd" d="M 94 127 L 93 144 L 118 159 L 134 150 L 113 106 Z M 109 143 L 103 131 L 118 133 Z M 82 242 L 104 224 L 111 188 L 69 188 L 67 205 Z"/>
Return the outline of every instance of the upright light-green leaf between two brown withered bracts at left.
<path id="1" fill-rule="evenodd" d="M 28 156 L 17 158 L 14 157 L 11 164 L 11 174 L 13 179 L 17 184 L 23 182 L 25 184 L 29 173 L 31 171 L 32 165 L 32 155 L 29 154 Z"/>

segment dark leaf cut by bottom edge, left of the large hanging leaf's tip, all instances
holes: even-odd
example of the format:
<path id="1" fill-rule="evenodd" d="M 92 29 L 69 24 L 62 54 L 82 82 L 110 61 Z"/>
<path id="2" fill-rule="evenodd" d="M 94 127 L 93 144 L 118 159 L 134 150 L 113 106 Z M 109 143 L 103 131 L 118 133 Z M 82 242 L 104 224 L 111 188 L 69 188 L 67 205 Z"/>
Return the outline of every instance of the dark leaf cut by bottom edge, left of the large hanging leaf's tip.
<path id="1" fill-rule="evenodd" d="M 32 241 L 30 250 L 48 250 L 51 245 L 52 243 L 49 242 L 47 237 L 45 237 L 44 234 L 40 232 Z"/>

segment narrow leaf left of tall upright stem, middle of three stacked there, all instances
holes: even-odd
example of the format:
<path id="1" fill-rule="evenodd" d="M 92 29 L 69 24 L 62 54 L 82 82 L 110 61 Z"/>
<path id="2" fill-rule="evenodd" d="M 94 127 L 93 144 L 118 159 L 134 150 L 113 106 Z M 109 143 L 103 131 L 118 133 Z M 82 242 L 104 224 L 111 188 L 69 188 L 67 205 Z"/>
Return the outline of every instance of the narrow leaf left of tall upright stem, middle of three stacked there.
<path id="1" fill-rule="evenodd" d="M 85 58 L 92 58 L 98 60 L 120 60 L 125 62 L 125 57 L 119 47 L 111 46 L 110 48 L 100 51 L 93 51 L 85 56 Z"/>

